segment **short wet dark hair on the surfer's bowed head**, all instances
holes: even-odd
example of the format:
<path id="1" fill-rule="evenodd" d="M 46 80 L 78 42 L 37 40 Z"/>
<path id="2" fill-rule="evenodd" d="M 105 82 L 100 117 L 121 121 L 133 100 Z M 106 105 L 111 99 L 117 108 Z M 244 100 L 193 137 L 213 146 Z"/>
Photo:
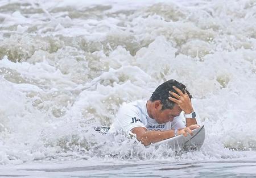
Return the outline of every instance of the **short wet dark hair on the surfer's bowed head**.
<path id="1" fill-rule="evenodd" d="M 160 100 L 162 102 L 162 110 L 164 109 L 173 109 L 175 102 L 171 101 L 168 99 L 168 97 L 173 97 L 172 94 L 169 93 L 169 91 L 174 92 L 176 94 L 179 95 L 179 93 L 176 92 L 176 90 L 174 88 L 172 88 L 172 86 L 176 86 L 177 88 L 179 88 L 183 93 L 187 93 L 189 98 L 192 98 L 192 95 L 188 92 L 187 87 L 176 81 L 176 80 L 168 80 L 166 82 L 164 82 L 163 84 L 159 85 L 158 88 L 155 89 L 155 92 L 152 93 L 151 97 L 150 97 L 150 101 L 156 101 L 156 100 Z"/>

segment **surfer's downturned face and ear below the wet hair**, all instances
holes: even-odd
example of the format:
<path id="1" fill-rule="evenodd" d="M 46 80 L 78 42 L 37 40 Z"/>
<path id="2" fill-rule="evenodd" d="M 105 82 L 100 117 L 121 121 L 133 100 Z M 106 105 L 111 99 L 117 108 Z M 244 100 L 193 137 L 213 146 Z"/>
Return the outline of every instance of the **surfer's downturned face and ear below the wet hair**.
<path id="1" fill-rule="evenodd" d="M 164 109 L 164 110 L 161 110 L 161 109 L 162 109 L 162 104 L 155 111 L 154 119 L 158 123 L 166 123 L 166 122 L 174 121 L 174 117 L 179 116 L 182 111 L 177 104 L 175 104 L 174 108 L 172 109 Z"/>

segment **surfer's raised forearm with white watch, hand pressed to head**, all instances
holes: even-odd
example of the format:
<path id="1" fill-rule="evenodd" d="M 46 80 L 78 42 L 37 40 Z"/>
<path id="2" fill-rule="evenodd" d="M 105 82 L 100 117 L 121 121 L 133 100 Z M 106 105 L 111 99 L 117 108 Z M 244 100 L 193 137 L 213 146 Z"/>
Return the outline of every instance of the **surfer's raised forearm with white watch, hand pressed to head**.
<path id="1" fill-rule="evenodd" d="M 186 126 L 189 127 L 191 125 L 197 124 L 196 115 L 194 113 L 191 99 L 189 98 L 188 94 L 186 92 L 181 92 L 181 90 L 176 86 L 173 86 L 173 88 L 179 94 L 170 91 L 169 93 L 172 94 L 172 96 L 174 96 L 175 98 L 169 97 L 169 100 L 175 102 L 177 105 L 180 106 L 180 109 L 184 111 L 186 118 Z"/>

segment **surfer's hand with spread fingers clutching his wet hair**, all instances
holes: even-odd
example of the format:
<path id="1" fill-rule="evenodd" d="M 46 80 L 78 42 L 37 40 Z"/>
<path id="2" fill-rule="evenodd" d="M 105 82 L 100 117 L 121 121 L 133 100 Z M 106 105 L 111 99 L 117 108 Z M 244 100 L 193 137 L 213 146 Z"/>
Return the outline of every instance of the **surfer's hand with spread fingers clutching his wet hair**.
<path id="1" fill-rule="evenodd" d="M 169 93 L 173 97 L 169 97 L 169 100 L 175 102 L 177 105 L 180 106 L 180 109 L 184 111 L 185 114 L 190 114 L 193 112 L 193 106 L 191 103 L 191 99 L 189 98 L 188 94 L 185 92 L 181 92 L 179 88 L 176 86 L 173 86 L 173 88 L 176 90 L 176 93 L 169 91 Z"/>

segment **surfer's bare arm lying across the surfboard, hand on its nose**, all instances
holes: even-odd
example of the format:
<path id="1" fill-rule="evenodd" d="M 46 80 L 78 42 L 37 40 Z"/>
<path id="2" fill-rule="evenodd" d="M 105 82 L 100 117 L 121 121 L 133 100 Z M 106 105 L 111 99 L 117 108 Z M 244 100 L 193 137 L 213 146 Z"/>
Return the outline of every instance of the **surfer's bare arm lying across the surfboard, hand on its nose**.
<path id="1" fill-rule="evenodd" d="M 197 129 L 199 126 L 191 125 L 189 127 L 185 127 L 183 129 L 177 130 L 177 135 L 183 134 L 187 136 L 187 133 L 193 134 L 192 130 Z M 144 146 L 147 146 L 151 143 L 160 142 L 162 140 L 172 138 L 175 136 L 174 130 L 164 130 L 164 131 L 156 131 L 156 130 L 147 130 L 144 127 L 135 127 L 131 130 L 132 133 L 136 134 L 137 139 L 141 141 Z"/>

